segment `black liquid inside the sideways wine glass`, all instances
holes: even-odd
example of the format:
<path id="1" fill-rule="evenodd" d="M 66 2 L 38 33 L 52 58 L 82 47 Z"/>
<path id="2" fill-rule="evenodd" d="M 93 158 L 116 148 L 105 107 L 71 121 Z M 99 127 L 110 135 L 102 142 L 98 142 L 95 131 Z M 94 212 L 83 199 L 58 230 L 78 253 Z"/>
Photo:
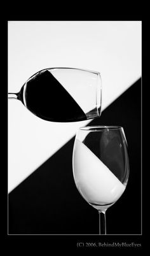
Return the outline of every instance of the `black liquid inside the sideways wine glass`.
<path id="1" fill-rule="evenodd" d="M 86 115 L 61 83 L 46 70 L 29 79 L 23 87 L 22 98 L 27 108 L 44 120 L 75 122 L 86 120 Z"/>

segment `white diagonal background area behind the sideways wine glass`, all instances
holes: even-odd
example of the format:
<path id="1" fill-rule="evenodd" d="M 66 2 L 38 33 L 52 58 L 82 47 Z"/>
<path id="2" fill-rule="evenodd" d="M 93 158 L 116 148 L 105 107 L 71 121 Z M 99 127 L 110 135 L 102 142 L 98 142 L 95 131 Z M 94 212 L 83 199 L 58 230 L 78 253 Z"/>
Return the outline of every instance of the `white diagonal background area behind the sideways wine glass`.
<path id="1" fill-rule="evenodd" d="M 18 92 L 24 82 L 39 70 L 55 67 L 99 71 L 104 110 L 141 76 L 141 22 L 8 22 L 8 92 Z M 57 96 L 53 97 L 57 104 Z M 66 124 L 41 120 L 20 101 L 10 99 L 8 191 L 27 178 L 88 122 Z"/>

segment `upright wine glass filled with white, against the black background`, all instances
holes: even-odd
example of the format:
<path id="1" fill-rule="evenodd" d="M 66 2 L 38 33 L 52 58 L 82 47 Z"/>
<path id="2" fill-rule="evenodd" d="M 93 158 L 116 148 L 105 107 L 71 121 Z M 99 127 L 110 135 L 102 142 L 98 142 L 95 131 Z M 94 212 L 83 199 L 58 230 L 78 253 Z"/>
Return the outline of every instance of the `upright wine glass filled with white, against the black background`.
<path id="1" fill-rule="evenodd" d="M 99 234 L 106 234 L 106 210 L 121 197 L 129 176 L 123 127 L 81 127 L 74 141 L 72 167 L 79 193 L 99 211 Z"/>

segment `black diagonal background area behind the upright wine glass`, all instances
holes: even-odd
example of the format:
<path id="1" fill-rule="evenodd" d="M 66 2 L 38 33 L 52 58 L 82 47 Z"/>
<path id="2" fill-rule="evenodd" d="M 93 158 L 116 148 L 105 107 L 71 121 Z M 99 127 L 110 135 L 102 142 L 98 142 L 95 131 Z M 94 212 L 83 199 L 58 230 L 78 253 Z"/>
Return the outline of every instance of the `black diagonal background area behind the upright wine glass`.
<path id="1" fill-rule="evenodd" d="M 141 80 L 88 125 L 124 128 L 130 176 L 123 196 L 106 211 L 107 234 L 141 234 Z M 74 138 L 10 192 L 9 234 L 99 233 L 98 211 L 80 196 L 73 180 L 73 145 Z"/>

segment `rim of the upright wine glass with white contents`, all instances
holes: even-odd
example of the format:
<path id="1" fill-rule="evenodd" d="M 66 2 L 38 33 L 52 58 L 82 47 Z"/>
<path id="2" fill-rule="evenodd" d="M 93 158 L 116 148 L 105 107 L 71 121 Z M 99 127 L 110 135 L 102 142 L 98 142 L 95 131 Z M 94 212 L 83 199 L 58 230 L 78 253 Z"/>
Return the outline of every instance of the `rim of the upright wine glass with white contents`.
<path id="1" fill-rule="evenodd" d="M 85 127 L 80 127 L 79 130 L 82 131 L 104 131 L 104 130 L 118 130 L 123 129 L 119 125 L 88 125 Z"/>

